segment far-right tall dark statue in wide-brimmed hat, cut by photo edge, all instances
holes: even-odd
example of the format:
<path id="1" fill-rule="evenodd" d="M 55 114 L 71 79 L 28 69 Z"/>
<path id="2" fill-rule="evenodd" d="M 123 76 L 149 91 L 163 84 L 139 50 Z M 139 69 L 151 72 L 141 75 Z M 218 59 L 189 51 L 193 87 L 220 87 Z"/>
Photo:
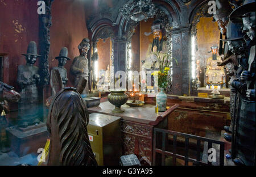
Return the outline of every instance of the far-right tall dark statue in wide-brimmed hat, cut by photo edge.
<path id="1" fill-rule="evenodd" d="M 240 58 L 241 78 L 232 86 L 241 95 L 237 126 L 233 132 L 232 158 L 238 165 L 255 165 L 255 0 L 245 0 L 229 16 L 233 23 L 243 23 L 244 39 L 249 48 Z"/>

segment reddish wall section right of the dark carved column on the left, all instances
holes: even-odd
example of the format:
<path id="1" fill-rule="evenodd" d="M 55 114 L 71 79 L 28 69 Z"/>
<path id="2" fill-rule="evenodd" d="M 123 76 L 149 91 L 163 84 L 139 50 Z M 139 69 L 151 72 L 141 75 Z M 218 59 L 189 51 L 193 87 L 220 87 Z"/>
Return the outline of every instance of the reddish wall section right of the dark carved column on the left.
<path id="1" fill-rule="evenodd" d="M 71 64 L 79 56 L 78 45 L 84 37 L 88 37 L 86 27 L 85 6 L 83 1 L 55 0 L 52 4 L 51 50 L 49 54 L 49 70 L 58 65 L 55 59 L 59 56 L 62 47 L 68 48 L 68 57 L 65 68 L 68 71 L 67 86 L 75 85 L 75 78 L 70 72 Z M 51 95 L 51 87 L 45 89 L 45 98 Z"/>

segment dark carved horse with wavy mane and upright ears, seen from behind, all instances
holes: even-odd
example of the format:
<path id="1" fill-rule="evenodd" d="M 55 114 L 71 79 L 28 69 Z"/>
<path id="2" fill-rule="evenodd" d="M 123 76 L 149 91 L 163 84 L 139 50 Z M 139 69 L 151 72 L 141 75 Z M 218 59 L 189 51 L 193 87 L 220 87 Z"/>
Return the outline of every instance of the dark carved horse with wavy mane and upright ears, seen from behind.
<path id="1" fill-rule="evenodd" d="M 55 85 L 57 94 L 48 99 L 49 114 L 47 128 L 50 133 L 48 165 L 51 166 L 94 166 L 97 165 L 90 147 L 86 126 L 89 114 L 80 94 L 86 80 L 80 77 L 77 88 L 66 87 L 61 91 L 62 81 L 57 70 L 55 77 L 60 86 Z"/>

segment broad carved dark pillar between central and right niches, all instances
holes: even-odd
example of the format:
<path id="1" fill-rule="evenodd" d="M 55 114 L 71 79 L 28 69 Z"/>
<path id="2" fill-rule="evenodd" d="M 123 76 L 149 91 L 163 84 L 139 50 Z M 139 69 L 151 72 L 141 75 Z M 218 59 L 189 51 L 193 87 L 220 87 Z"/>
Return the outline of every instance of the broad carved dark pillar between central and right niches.
<path id="1" fill-rule="evenodd" d="M 172 94 L 190 95 L 190 35 L 189 27 L 172 29 L 173 75 Z"/>

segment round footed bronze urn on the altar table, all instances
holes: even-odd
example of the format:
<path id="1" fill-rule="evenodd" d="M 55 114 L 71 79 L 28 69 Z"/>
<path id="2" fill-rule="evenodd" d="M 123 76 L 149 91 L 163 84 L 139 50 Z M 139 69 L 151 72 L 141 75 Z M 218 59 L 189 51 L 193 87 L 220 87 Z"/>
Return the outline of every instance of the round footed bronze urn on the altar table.
<path id="1" fill-rule="evenodd" d="M 108 95 L 108 100 L 115 106 L 112 113 L 125 112 L 121 109 L 121 106 L 128 100 L 128 96 L 125 94 L 126 90 L 109 90 L 111 93 Z"/>

